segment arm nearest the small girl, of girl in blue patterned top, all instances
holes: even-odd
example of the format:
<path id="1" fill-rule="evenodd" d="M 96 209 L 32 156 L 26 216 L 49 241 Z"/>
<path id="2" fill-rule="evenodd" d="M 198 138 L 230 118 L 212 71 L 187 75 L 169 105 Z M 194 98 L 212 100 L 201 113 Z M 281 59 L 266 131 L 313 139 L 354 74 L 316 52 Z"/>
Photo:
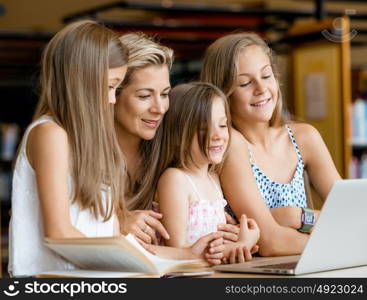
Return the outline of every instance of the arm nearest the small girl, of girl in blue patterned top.
<path id="1" fill-rule="evenodd" d="M 298 142 L 298 140 L 297 140 Z M 261 229 L 260 255 L 291 255 L 302 252 L 309 235 L 289 227 L 280 226 L 261 197 L 249 160 L 247 141 L 241 133 L 232 130 L 229 153 L 220 179 L 226 200 L 237 217 L 246 213 L 256 220 Z M 246 182 L 246 184 L 243 184 Z"/>

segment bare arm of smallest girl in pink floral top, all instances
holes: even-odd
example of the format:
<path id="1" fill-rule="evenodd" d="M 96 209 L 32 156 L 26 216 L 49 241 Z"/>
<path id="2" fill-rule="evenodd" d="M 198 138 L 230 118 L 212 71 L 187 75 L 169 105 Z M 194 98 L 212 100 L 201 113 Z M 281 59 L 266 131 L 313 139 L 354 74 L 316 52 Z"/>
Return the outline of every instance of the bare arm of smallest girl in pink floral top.
<path id="1" fill-rule="evenodd" d="M 159 210 L 163 215 L 162 224 L 170 239 L 167 246 L 184 248 L 189 213 L 190 190 L 184 174 L 174 168 L 167 169 L 161 176 L 157 187 Z"/>

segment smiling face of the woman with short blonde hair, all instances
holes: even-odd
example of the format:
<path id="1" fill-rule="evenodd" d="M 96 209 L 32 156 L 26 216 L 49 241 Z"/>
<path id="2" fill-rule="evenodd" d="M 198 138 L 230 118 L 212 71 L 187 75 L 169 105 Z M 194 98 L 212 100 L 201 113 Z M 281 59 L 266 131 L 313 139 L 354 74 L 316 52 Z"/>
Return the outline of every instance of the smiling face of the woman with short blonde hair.
<path id="1" fill-rule="evenodd" d="M 152 139 L 168 110 L 170 89 L 166 65 L 135 70 L 117 98 L 115 122 L 130 135 Z"/>

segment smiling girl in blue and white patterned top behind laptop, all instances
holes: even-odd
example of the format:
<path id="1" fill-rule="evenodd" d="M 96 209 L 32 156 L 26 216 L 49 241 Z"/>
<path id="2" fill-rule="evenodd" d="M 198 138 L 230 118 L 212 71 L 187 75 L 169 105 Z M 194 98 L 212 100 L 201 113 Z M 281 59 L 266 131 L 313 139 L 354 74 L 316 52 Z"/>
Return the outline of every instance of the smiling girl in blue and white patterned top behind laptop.
<path id="1" fill-rule="evenodd" d="M 340 175 L 314 127 L 282 119 L 271 49 L 253 33 L 224 36 L 207 49 L 201 80 L 229 99 L 234 129 L 220 179 L 235 215 L 258 223 L 261 255 L 301 253 L 301 216 L 318 216 L 305 209 L 303 170 L 322 199 Z"/>

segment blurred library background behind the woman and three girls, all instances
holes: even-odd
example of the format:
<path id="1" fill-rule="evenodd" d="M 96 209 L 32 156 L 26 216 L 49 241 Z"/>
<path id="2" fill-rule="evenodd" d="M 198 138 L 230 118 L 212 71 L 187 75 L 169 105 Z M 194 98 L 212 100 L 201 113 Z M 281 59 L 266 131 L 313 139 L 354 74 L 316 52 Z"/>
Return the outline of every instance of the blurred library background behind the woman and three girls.
<path id="1" fill-rule="evenodd" d="M 315 126 L 344 178 L 367 178 L 367 1 L 0 1 L 2 276 L 8 276 L 12 163 L 38 99 L 40 57 L 55 32 L 87 18 L 142 31 L 175 50 L 171 83 L 198 78 L 206 47 L 260 34 L 278 56 L 285 114 Z M 316 197 L 316 196 L 315 196 Z M 322 203 L 317 205 L 321 207 Z M 1 272 L 1 269 L 0 269 Z"/>

